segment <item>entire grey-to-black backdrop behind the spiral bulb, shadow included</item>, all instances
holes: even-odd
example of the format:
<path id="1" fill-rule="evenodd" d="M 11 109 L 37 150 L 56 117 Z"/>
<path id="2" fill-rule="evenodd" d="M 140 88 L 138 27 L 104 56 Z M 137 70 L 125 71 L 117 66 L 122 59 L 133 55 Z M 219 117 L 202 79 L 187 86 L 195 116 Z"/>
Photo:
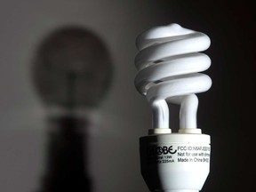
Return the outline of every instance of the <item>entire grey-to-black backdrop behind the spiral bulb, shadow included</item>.
<path id="1" fill-rule="evenodd" d="M 139 137 L 151 127 L 151 114 L 133 85 L 135 38 L 172 22 L 212 39 L 212 66 L 204 72 L 212 88 L 198 94 L 198 127 L 212 136 L 202 191 L 251 190 L 252 3 L 1 0 L 0 191 L 53 192 L 51 186 L 76 177 L 85 183 L 81 191 L 148 191 Z M 172 116 L 177 129 L 178 108 Z M 70 164 L 79 164 L 74 177 L 56 181 Z"/>

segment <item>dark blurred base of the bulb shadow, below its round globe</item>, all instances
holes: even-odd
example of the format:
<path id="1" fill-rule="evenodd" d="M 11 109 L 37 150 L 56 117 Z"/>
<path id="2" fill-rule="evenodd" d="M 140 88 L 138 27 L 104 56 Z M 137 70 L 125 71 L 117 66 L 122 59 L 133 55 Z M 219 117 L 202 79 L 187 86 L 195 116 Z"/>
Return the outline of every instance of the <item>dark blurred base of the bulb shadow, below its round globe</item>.
<path id="1" fill-rule="evenodd" d="M 51 118 L 41 192 L 92 191 L 88 171 L 88 123 L 74 116 Z"/>

